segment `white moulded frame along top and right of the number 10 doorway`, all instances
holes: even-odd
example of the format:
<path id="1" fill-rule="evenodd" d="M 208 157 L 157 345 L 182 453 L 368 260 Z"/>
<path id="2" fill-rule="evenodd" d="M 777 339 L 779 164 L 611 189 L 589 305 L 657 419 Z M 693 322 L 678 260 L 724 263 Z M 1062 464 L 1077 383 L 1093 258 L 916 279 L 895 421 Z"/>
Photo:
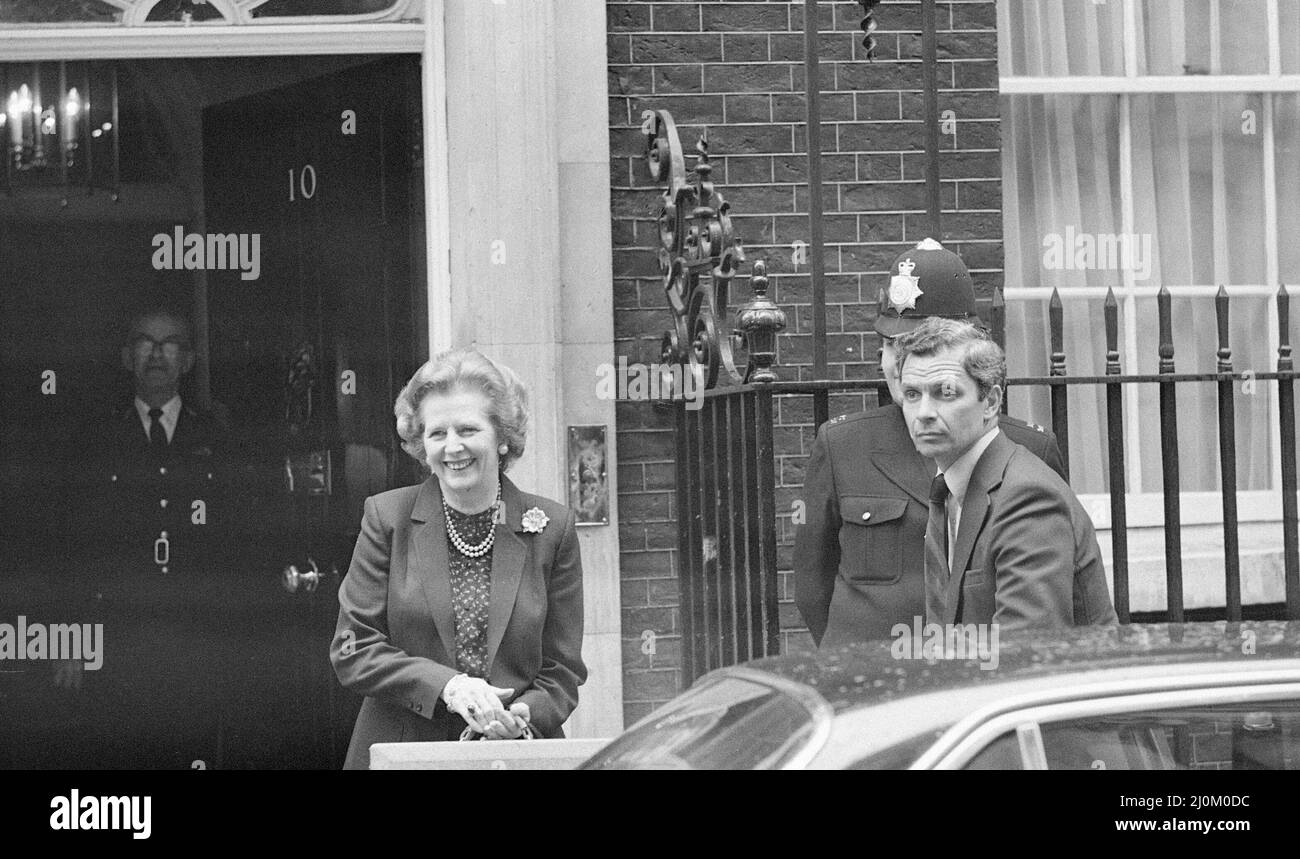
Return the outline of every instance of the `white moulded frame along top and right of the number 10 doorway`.
<path id="1" fill-rule="evenodd" d="M 424 112 L 424 234 L 429 353 L 451 344 L 451 225 L 447 211 L 447 69 L 443 0 L 424 23 L 295 23 L 238 27 L 86 25 L 0 30 L 0 62 L 419 53 Z"/>

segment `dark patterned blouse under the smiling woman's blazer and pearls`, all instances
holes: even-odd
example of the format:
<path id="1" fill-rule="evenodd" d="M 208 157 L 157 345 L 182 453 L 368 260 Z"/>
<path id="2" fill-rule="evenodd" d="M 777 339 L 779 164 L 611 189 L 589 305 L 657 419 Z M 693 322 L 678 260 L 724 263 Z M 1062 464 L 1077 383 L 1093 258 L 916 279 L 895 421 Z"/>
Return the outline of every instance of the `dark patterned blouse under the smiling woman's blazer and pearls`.
<path id="1" fill-rule="evenodd" d="M 495 528 L 489 507 L 481 513 L 462 513 L 447 507 L 451 525 L 460 538 L 476 546 Z M 456 671 L 488 678 L 488 606 L 491 602 L 491 551 L 481 558 L 465 558 L 447 534 L 451 559 L 451 609 L 456 620 Z"/>

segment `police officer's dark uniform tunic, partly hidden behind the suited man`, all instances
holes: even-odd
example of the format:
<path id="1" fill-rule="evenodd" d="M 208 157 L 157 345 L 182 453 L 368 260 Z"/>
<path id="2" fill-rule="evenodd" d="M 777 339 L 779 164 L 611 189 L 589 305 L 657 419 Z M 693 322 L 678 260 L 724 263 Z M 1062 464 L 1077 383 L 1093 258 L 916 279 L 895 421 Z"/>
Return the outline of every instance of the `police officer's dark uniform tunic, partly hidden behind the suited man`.
<path id="1" fill-rule="evenodd" d="M 1000 425 L 1063 477 L 1052 433 L 1006 416 Z M 935 472 L 897 404 L 836 417 L 818 431 L 794 535 L 794 602 L 822 647 L 889 638 L 894 624 L 924 616 Z"/>

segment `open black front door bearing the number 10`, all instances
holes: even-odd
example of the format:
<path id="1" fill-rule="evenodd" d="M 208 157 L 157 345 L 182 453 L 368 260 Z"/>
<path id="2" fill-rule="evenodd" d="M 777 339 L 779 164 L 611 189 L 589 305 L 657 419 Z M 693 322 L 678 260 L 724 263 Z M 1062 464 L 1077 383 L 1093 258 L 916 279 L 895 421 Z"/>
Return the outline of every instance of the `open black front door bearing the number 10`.
<path id="1" fill-rule="evenodd" d="M 251 582 L 231 594 L 225 765 L 341 765 L 355 719 L 328 659 L 337 587 L 364 499 L 417 478 L 393 418 L 426 348 L 417 68 L 384 60 L 203 114 L 205 231 L 260 251 L 255 279 L 208 279 Z"/>

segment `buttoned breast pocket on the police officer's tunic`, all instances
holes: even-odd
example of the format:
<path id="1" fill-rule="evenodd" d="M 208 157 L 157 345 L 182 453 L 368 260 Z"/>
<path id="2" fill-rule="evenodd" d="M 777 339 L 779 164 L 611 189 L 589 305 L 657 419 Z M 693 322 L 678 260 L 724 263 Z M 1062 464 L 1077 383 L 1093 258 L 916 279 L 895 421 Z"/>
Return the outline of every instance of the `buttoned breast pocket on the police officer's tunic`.
<path id="1" fill-rule="evenodd" d="M 920 541 L 907 541 L 907 499 L 885 495 L 841 495 L 840 565 L 849 580 L 868 585 L 897 582 L 909 564 L 920 564 Z M 911 546 L 916 543 L 916 546 Z"/>

